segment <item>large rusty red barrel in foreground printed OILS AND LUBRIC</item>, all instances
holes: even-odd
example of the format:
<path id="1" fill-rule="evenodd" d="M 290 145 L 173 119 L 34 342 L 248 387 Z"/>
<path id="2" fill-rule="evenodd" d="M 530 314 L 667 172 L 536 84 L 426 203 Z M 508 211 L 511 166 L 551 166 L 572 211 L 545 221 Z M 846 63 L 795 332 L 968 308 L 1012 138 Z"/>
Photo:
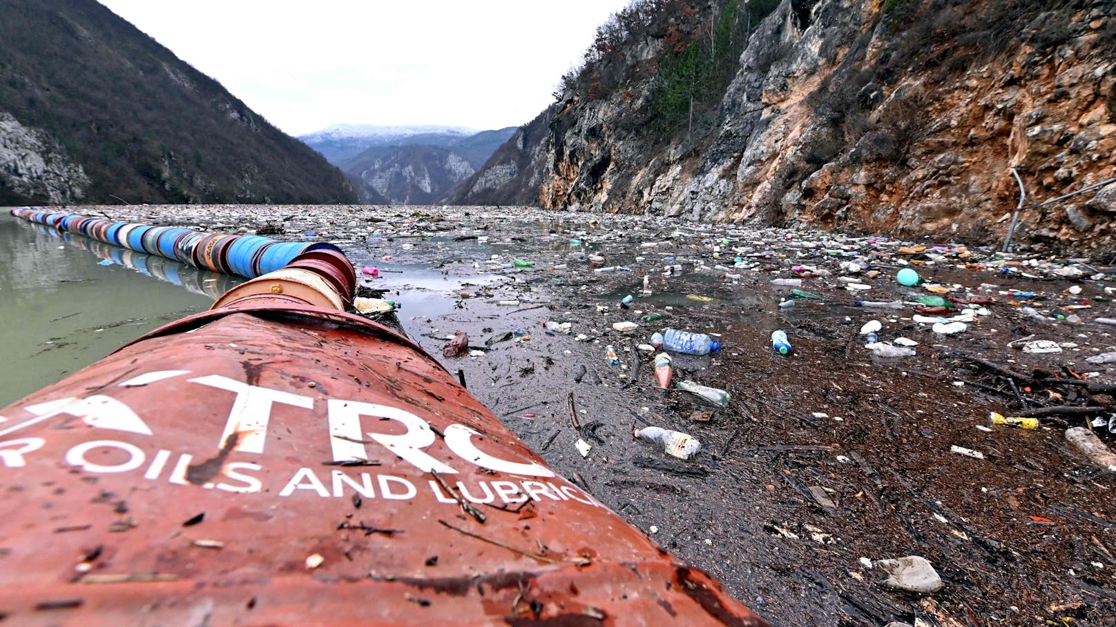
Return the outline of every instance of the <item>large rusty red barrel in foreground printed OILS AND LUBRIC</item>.
<path id="1" fill-rule="evenodd" d="M 238 306 L 0 409 L 7 621 L 764 625 L 407 338 Z"/>

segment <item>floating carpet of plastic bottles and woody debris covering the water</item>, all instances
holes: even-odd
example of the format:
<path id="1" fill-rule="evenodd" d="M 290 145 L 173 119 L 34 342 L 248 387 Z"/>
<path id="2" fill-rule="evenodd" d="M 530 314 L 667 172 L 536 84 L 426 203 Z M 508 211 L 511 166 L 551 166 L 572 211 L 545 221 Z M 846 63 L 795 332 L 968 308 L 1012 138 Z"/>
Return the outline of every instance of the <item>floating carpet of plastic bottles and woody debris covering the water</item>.
<path id="1" fill-rule="evenodd" d="M 339 245 L 559 472 L 773 623 L 1114 624 L 1113 474 L 1066 436 L 1116 445 L 1104 260 L 525 208 L 74 211 Z M 658 388 L 646 348 L 667 327 L 714 334 L 719 353 L 672 365 L 727 407 Z M 941 588 L 885 586 L 876 561 L 907 556 Z"/>

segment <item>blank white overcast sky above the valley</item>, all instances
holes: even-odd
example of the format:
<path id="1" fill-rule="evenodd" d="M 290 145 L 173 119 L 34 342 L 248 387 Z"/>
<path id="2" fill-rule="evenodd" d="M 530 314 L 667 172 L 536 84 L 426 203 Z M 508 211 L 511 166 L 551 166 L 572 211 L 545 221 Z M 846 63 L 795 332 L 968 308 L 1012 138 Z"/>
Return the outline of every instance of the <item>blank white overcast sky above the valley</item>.
<path id="1" fill-rule="evenodd" d="M 100 0 L 290 135 L 525 124 L 628 0 Z"/>

